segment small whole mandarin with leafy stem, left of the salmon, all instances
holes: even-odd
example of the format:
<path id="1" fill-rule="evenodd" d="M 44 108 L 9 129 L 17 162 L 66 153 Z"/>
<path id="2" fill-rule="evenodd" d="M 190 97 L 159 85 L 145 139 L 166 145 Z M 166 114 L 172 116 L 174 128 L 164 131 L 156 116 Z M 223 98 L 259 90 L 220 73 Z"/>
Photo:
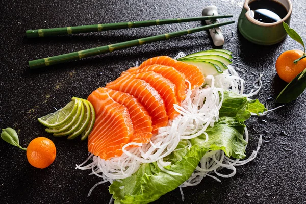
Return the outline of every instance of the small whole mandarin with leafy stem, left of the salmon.
<path id="1" fill-rule="evenodd" d="M 48 138 L 37 137 L 27 147 L 27 159 L 36 168 L 43 169 L 50 166 L 55 157 L 55 145 Z"/>

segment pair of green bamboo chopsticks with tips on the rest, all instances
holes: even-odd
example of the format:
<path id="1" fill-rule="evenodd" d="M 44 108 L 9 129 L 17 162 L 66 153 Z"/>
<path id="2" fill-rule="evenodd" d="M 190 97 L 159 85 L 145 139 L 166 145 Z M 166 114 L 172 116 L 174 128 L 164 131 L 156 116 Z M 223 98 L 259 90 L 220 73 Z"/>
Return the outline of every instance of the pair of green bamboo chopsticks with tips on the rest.
<path id="1" fill-rule="evenodd" d="M 229 17 L 233 17 L 233 16 L 232 15 L 203 16 L 203 17 L 194 17 L 194 18 L 176 18 L 176 19 L 163 19 L 163 20 L 148 20 L 148 21 L 136 21 L 136 22 L 120 22 L 120 23 L 109 23 L 109 24 L 83 25 L 83 26 L 76 26 L 76 27 L 28 30 L 26 31 L 26 35 L 27 35 L 27 38 L 35 38 L 35 37 L 57 36 L 57 35 L 66 35 L 66 34 L 75 34 L 75 33 L 88 33 L 88 32 L 96 32 L 96 31 L 138 28 L 138 27 L 147 27 L 151 25 L 182 23 L 182 22 L 191 22 L 191 21 L 199 21 L 199 20 L 212 20 L 212 19 L 229 18 Z M 147 44 L 151 42 L 167 40 L 172 37 L 178 37 L 182 35 L 196 33 L 199 31 L 213 29 L 216 27 L 221 27 L 222 25 L 232 24 L 234 22 L 235 21 L 215 23 L 215 24 L 205 25 L 202 27 L 192 28 L 188 30 L 166 33 L 162 35 L 156 35 L 156 36 L 140 38 L 136 40 L 130 40 L 130 41 L 120 42 L 116 44 L 91 48 L 91 49 L 85 49 L 85 50 L 68 53 L 64 55 L 58 55 L 58 56 L 47 57 L 47 58 L 38 59 L 38 60 L 32 60 L 32 61 L 29 61 L 29 66 L 30 66 L 30 69 L 36 69 L 36 68 L 45 67 L 49 65 L 64 63 L 64 62 L 77 60 L 77 59 L 90 57 L 90 56 L 95 56 L 95 55 L 99 55 L 103 53 L 110 53 L 110 52 L 113 52 L 114 50 L 134 47 L 134 46 Z"/>

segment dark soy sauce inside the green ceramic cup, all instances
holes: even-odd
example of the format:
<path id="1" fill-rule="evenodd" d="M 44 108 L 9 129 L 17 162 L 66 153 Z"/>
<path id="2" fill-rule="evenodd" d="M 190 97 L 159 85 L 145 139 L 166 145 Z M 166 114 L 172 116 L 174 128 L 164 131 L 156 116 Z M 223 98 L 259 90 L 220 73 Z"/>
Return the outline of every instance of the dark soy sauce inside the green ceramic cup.
<path id="1" fill-rule="evenodd" d="M 251 17 L 264 23 L 273 23 L 285 18 L 287 9 L 273 0 L 256 0 L 249 4 Z"/>

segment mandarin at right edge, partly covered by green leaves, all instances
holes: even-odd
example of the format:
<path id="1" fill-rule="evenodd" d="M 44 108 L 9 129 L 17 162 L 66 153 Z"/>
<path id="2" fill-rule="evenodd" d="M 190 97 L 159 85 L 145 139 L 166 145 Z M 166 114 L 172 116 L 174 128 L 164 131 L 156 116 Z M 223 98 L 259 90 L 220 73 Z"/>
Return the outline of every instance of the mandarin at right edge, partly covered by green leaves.
<path id="1" fill-rule="evenodd" d="M 289 83 L 297 74 L 306 68 L 306 58 L 294 63 L 293 61 L 300 58 L 304 52 L 299 49 L 288 50 L 280 55 L 275 64 L 278 76 Z"/>

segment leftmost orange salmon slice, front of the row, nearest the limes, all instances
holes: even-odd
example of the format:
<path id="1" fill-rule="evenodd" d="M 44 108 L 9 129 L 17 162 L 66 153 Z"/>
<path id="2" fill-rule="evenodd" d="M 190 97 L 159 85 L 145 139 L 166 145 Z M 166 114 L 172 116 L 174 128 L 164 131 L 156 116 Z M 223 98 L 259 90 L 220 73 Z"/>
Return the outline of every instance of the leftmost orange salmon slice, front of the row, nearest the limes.
<path id="1" fill-rule="evenodd" d="M 120 156 L 120 149 L 130 141 L 134 132 L 129 111 L 108 94 L 100 95 L 94 91 L 87 100 L 97 110 L 93 129 L 88 136 L 88 151 L 105 160 Z"/>

